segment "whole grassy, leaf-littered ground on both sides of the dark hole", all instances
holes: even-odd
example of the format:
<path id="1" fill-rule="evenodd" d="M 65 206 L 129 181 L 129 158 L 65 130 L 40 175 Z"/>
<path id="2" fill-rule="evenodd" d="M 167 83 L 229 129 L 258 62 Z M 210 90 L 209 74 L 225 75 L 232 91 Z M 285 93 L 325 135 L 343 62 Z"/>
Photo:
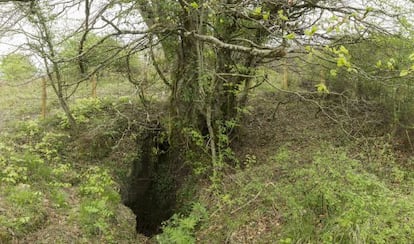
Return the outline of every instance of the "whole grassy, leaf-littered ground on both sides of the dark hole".
<path id="1" fill-rule="evenodd" d="M 135 216 L 122 204 L 149 125 L 132 98 L 78 100 L 77 137 L 59 113 L 8 123 L 0 144 L 2 243 L 413 240 L 414 164 L 383 128 L 350 136 L 289 94 L 259 91 L 248 108 L 232 138 L 236 167 L 214 186 L 188 175 L 169 206 L 176 214 L 151 239 L 135 233 Z"/>

